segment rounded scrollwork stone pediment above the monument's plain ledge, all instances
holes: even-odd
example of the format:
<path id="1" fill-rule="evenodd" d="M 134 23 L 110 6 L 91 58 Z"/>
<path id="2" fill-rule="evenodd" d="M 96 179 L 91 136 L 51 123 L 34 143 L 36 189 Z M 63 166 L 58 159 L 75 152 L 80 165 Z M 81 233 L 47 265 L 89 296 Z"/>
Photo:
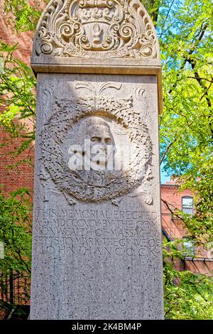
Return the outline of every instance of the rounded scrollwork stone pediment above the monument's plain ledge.
<path id="1" fill-rule="evenodd" d="M 139 0 L 52 0 L 38 23 L 34 55 L 159 59 L 159 47 Z"/>

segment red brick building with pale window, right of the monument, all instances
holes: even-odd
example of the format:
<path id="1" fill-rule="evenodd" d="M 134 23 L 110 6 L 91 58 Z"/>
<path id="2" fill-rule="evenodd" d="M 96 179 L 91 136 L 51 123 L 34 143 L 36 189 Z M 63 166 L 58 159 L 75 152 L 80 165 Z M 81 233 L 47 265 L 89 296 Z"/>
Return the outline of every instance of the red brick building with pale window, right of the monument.
<path id="1" fill-rule="evenodd" d="M 213 254 L 210 250 L 194 247 L 188 237 L 187 229 L 182 220 L 181 214 L 174 212 L 182 210 L 188 215 L 194 213 L 193 195 L 190 190 L 180 192 L 180 186 L 174 181 L 162 184 L 161 188 L 161 219 L 163 235 L 168 240 L 183 239 L 187 249 L 184 260 L 178 260 L 176 266 L 181 270 L 190 270 L 195 273 L 211 275 L 213 270 Z"/>

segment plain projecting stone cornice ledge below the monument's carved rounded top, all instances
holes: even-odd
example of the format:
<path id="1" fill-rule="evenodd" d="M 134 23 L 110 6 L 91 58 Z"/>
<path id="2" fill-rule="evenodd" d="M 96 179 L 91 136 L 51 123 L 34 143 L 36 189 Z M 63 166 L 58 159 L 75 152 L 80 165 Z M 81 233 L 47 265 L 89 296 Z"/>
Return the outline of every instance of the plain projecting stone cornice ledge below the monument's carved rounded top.
<path id="1" fill-rule="evenodd" d="M 160 60 L 111 58 L 53 58 L 33 56 L 31 67 L 37 73 L 83 73 L 107 75 L 156 75 L 158 79 L 158 108 L 163 111 L 162 68 Z"/>

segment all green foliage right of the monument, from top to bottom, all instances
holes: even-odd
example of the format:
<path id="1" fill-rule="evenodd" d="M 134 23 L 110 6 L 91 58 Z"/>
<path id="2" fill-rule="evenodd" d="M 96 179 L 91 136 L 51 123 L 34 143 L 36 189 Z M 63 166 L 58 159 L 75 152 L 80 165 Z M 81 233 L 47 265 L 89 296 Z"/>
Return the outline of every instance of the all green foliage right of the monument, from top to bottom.
<path id="1" fill-rule="evenodd" d="M 145 2 L 154 17 L 155 1 Z M 156 16 L 163 63 L 161 163 L 181 190 L 195 194 L 193 217 L 175 213 L 195 246 L 206 248 L 213 235 L 212 6 L 209 0 L 158 1 Z M 163 244 L 165 318 L 212 319 L 212 279 L 175 269 L 185 257 L 181 244 Z"/>

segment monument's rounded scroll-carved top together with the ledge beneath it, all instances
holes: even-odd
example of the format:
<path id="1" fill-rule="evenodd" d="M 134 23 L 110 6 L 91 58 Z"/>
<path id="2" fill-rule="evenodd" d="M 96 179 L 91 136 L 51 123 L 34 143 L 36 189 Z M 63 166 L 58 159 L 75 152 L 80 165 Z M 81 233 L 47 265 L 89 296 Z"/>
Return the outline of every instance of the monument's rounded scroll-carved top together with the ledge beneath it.
<path id="1" fill-rule="evenodd" d="M 97 73 L 101 65 L 106 74 L 121 74 L 122 67 L 125 72 L 132 68 L 129 74 L 148 74 L 147 66 L 157 74 L 160 52 L 139 0 L 52 0 L 38 23 L 31 63 L 35 72 L 43 72 L 44 66 L 48 72 L 62 72 L 62 65 L 66 72 L 81 68 Z"/>

